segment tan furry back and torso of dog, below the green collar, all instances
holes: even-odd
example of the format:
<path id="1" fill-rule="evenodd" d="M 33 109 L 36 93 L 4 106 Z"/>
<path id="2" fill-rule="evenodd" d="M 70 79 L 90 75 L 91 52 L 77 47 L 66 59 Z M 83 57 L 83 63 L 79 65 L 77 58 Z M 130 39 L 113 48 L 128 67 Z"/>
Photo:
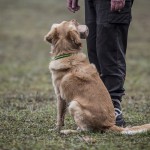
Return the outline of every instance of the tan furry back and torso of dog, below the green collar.
<path id="1" fill-rule="evenodd" d="M 52 62 L 50 69 L 55 80 L 55 89 L 59 89 L 61 97 L 68 103 L 77 101 L 80 104 L 88 115 L 86 120 L 89 120 L 89 124 L 95 128 L 115 124 L 109 93 L 95 66 L 89 64 L 83 53 Z"/>

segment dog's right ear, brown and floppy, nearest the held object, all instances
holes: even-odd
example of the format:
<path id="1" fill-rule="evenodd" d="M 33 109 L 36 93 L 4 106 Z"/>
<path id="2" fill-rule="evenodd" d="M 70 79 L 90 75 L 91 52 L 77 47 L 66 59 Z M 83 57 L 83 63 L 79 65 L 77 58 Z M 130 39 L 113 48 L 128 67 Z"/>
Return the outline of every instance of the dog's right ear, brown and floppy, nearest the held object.
<path id="1" fill-rule="evenodd" d="M 78 47 L 81 47 L 82 45 L 80 35 L 75 30 L 71 30 L 68 32 L 67 39 L 70 40 L 73 44 L 77 45 Z"/>

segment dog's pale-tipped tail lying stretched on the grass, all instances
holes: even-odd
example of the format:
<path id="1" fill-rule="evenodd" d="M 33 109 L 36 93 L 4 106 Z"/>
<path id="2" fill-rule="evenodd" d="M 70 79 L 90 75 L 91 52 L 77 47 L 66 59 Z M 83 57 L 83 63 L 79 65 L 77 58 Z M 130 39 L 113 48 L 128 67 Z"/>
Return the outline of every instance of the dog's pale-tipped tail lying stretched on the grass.
<path id="1" fill-rule="evenodd" d="M 150 124 L 144 124 L 141 126 L 133 126 L 133 127 L 127 127 L 127 128 L 122 128 L 122 127 L 118 127 L 114 125 L 110 127 L 110 130 L 119 132 L 121 134 L 134 135 L 134 134 L 150 131 Z"/>

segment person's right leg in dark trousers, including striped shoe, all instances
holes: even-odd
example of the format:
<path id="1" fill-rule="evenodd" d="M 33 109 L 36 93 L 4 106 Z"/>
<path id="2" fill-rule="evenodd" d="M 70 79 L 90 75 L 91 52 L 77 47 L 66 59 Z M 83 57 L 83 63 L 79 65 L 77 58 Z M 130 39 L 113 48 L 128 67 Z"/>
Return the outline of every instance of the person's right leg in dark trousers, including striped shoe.
<path id="1" fill-rule="evenodd" d="M 130 1 L 122 12 L 111 12 L 109 1 L 95 0 L 97 15 L 96 50 L 101 78 L 107 87 L 116 114 L 116 125 L 124 125 L 121 98 L 126 75 L 125 54 L 131 20 Z"/>

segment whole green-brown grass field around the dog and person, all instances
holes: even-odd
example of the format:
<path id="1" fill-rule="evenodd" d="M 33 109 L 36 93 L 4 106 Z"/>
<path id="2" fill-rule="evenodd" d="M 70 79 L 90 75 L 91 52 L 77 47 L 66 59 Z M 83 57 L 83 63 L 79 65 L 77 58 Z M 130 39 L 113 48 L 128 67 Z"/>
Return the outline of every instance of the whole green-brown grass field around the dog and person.
<path id="1" fill-rule="evenodd" d="M 60 135 L 55 126 L 56 101 L 49 44 L 44 35 L 53 23 L 77 19 L 66 0 L 0 0 L 0 149 L 4 150 L 149 150 L 150 132 Z M 126 96 L 122 106 L 127 125 L 150 123 L 149 0 L 135 0 L 127 50 Z M 84 42 L 83 46 L 86 52 Z M 69 115 L 65 129 L 76 126 Z M 86 139 L 92 138 L 87 141 Z"/>

